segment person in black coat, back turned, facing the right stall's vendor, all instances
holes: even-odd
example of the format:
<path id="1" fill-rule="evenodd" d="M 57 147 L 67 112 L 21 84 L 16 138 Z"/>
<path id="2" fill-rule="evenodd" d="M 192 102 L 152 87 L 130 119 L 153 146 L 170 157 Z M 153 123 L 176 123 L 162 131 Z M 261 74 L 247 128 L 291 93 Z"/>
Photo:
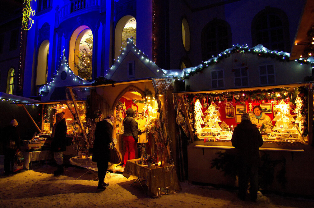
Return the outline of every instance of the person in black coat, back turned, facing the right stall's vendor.
<path id="1" fill-rule="evenodd" d="M 237 149 L 239 161 L 239 193 L 238 197 L 245 200 L 250 178 L 250 196 L 252 201 L 257 199 L 258 167 L 260 166 L 259 147 L 263 145 L 261 133 L 256 125 L 250 121 L 250 115 L 243 113 L 241 123 L 238 124 L 232 134 L 232 146 Z"/>

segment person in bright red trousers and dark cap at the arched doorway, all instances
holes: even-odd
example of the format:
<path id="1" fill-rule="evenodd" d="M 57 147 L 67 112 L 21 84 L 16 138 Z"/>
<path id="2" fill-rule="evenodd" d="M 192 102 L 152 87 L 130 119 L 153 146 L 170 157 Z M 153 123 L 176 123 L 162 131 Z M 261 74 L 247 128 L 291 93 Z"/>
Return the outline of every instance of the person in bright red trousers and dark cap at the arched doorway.
<path id="1" fill-rule="evenodd" d="M 123 119 L 123 140 L 125 145 L 125 153 L 123 157 L 123 167 L 125 167 L 127 160 L 135 158 L 136 143 L 138 142 L 138 123 L 134 120 L 134 111 L 128 108 L 127 116 Z"/>

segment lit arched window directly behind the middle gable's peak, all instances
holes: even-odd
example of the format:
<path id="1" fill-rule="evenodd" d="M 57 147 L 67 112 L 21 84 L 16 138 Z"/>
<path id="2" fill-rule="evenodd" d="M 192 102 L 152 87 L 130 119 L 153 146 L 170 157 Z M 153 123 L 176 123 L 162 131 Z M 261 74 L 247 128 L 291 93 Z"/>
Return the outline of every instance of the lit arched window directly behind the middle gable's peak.
<path id="1" fill-rule="evenodd" d="M 121 54 L 121 49 L 127 45 L 127 38 L 133 37 L 136 45 L 136 20 L 133 16 L 122 17 L 116 24 L 115 29 L 115 60 Z"/>

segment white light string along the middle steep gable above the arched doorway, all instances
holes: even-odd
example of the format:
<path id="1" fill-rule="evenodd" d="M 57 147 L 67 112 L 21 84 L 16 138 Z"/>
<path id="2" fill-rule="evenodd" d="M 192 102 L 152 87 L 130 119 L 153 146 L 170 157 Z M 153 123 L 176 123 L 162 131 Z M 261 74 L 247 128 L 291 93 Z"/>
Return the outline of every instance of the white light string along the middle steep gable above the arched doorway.
<path id="1" fill-rule="evenodd" d="M 132 49 L 130 48 L 132 47 Z M 156 74 L 161 74 L 162 77 L 165 76 L 166 74 L 166 70 L 161 69 L 160 67 L 158 67 L 155 62 L 153 62 L 152 60 L 150 60 L 148 58 L 148 56 L 146 56 L 141 50 L 139 50 L 134 44 L 133 44 L 133 38 L 128 38 L 127 39 L 127 46 L 122 50 L 120 56 L 117 57 L 116 62 L 109 68 L 109 70 L 106 71 L 106 78 L 110 78 L 110 76 L 112 76 L 113 72 L 117 69 L 117 67 L 119 66 L 119 64 L 121 63 L 121 61 L 125 58 L 126 54 L 125 51 L 127 49 L 130 48 L 130 51 L 132 51 L 135 56 L 137 56 L 146 66 L 148 66 L 148 64 L 151 64 L 154 67 L 157 67 L 156 69 Z M 112 74 L 111 74 L 112 72 Z"/>

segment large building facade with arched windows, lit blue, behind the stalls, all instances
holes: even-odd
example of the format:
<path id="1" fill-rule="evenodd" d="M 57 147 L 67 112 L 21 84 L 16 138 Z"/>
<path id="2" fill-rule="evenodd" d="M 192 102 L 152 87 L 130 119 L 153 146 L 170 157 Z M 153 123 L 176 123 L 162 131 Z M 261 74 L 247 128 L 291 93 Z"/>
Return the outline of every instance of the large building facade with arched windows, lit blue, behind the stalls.
<path id="1" fill-rule="evenodd" d="M 250 48 L 262 44 L 289 53 L 305 2 L 25 0 L 27 18 L 18 27 L 21 64 L 10 67 L 1 62 L 0 91 L 7 92 L 8 71 L 14 68 L 20 73 L 14 75 L 13 94 L 38 96 L 40 87 L 57 73 L 63 50 L 69 68 L 80 75 L 75 64 L 82 66 L 78 56 L 83 55 L 83 40 L 90 37 L 93 56 L 85 77 L 89 81 L 106 76 L 127 37 L 133 37 L 134 45 L 165 70 L 198 66 L 236 44 Z M 135 34 L 123 36 L 132 22 Z M 7 37 L 7 32 L 3 29 L 0 34 L 2 54 L 8 40 L 1 35 Z"/>

